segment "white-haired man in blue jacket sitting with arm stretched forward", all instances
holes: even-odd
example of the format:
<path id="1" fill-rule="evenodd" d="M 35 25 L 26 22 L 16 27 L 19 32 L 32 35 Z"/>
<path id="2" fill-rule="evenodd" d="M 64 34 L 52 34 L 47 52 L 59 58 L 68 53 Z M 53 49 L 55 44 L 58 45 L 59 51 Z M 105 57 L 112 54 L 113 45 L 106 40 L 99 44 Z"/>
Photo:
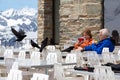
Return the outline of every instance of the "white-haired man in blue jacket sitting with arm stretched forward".
<path id="1" fill-rule="evenodd" d="M 109 48 L 110 52 L 112 52 L 114 50 L 115 44 L 114 44 L 114 41 L 109 36 L 108 29 L 106 29 L 106 28 L 101 29 L 99 31 L 98 37 L 99 37 L 100 41 L 97 44 L 93 43 L 92 45 L 86 46 L 84 48 L 79 47 L 78 50 L 81 50 L 81 51 L 96 51 L 97 54 L 101 54 L 104 47 Z"/>

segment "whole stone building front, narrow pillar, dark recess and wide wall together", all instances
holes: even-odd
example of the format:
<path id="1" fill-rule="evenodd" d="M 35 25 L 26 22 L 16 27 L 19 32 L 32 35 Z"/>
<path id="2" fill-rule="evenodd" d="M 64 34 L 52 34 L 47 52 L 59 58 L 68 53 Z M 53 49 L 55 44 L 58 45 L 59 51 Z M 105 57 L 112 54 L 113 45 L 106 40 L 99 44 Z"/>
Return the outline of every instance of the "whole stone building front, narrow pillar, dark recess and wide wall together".
<path id="1" fill-rule="evenodd" d="M 89 28 L 103 25 L 103 0 L 38 0 L 38 42 L 45 37 L 63 45 Z"/>

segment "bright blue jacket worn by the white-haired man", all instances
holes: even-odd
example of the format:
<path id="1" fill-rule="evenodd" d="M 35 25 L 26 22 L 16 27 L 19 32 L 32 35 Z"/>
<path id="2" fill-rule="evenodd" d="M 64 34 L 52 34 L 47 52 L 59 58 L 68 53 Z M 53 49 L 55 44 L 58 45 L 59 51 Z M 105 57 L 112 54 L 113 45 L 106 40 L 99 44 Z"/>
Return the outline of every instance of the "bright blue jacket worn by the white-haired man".
<path id="1" fill-rule="evenodd" d="M 90 46 L 86 46 L 84 48 L 85 51 L 96 51 L 98 54 L 102 53 L 102 49 L 104 47 L 108 47 L 109 51 L 112 52 L 114 50 L 114 43 L 112 42 L 112 40 L 110 38 L 106 38 L 100 42 L 98 42 L 98 44 L 92 44 Z"/>

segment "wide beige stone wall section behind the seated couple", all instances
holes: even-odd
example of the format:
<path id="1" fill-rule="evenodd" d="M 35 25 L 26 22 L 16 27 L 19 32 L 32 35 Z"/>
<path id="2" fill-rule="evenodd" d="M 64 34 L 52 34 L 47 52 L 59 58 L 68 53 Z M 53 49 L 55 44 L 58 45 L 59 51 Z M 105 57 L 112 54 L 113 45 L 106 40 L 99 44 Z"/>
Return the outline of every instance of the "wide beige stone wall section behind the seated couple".
<path id="1" fill-rule="evenodd" d="M 86 28 L 93 37 L 102 27 L 102 0 L 61 0 L 60 44 L 70 43 Z M 69 41 L 70 40 L 70 41 Z"/>

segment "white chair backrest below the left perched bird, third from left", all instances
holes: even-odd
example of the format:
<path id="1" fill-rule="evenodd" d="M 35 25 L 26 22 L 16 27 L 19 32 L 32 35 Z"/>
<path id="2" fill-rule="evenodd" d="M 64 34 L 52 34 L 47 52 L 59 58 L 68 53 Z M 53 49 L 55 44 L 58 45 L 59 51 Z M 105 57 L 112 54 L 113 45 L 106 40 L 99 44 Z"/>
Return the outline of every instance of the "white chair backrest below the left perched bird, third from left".
<path id="1" fill-rule="evenodd" d="M 32 51 L 31 55 L 30 55 L 30 59 L 32 61 L 33 65 L 37 65 L 40 64 L 40 52 L 37 51 Z"/>

